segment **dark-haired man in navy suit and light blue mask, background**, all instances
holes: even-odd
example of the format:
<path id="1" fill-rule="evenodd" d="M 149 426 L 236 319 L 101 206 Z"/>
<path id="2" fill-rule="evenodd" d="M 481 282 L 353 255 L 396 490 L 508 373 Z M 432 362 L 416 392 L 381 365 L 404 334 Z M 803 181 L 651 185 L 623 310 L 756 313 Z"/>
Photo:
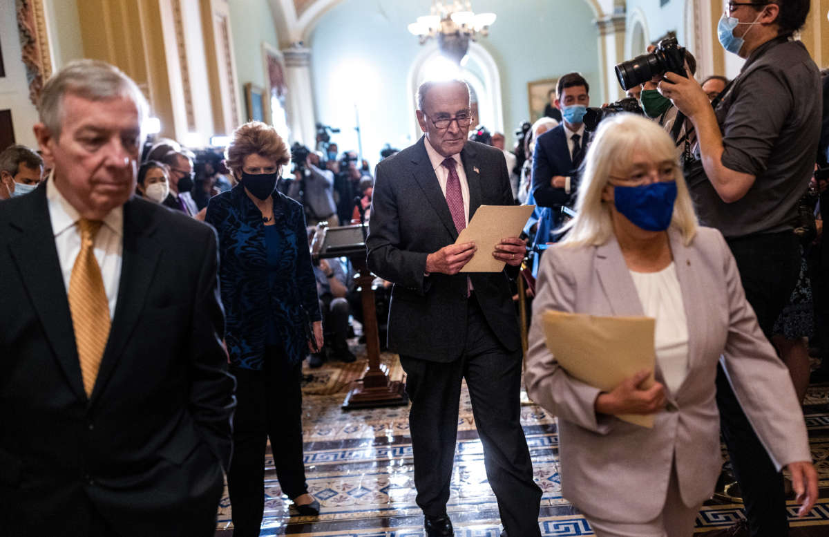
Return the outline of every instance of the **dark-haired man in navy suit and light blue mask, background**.
<path id="1" fill-rule="evenodd" d="M 578 188 L 576 170 L 584 158 L 589 133 L 584 111 L 590 105 L 590 86 L 579 73 L 562 76 L 555 86 L 555 106 L 564 121 L 536 140 L 532 160 L 532 193 L 536 204 L 553 210 L 551 230 L 562 224 L 561 208 L 571 207 Z"/>

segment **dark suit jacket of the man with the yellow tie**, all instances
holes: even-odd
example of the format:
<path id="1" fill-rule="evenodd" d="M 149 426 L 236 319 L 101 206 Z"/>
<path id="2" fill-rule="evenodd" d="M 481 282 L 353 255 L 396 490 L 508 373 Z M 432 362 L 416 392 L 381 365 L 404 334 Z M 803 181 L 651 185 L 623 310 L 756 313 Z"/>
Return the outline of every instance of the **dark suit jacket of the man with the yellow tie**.
<path id="1" fill-rule="evenodd" d="M 235 407 L 216 260 L 210 227 L 124 205 L 118 303 L 88 399 L 46 187 L 0 202 L 0 533 L 85 535 L 94 509 L 119 535 L 212 535 L 193 519 L 215 516 Z"/>

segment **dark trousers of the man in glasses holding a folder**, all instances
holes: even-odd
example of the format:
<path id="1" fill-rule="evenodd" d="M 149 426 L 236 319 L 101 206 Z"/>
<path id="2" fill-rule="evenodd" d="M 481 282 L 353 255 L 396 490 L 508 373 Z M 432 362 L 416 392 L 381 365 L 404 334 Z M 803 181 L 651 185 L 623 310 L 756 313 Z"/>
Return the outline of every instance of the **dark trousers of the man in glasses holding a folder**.
<path id="1" fill-rule="evenodd" d="M 538 537 L 541 489 L 532 479 L 521 428 L 521 351 L 507 352 L 488 327 L 478 301 L 468 301 L 466 349 L 439 363 L 400 356 L 411 399 L 409 425 L 417 504 L 425 515 L 446 512 L 458 438 L 461 380 L 466 379 L 483 444 L 489 485 L 509 535 Z"/>

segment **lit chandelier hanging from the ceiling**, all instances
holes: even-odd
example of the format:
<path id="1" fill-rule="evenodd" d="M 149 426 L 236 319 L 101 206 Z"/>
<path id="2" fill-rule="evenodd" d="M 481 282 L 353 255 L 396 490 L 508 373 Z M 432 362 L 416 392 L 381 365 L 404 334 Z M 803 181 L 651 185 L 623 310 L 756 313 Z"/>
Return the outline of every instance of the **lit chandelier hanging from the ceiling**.
<path id="1" fill-rule="evenodd" d="M 436 37 L 441 53 L 459 64 L 466 56 L 469 41 L 475 41 L 478 35 L 487 36 L 492 22 L 495 22 L 495 13 L 476 15 L 468 0 L 432 0 L 429 15 L 417 17 L 417 22 L 409 25 L 409 31 L 419 37 L 421 45 Z"/>

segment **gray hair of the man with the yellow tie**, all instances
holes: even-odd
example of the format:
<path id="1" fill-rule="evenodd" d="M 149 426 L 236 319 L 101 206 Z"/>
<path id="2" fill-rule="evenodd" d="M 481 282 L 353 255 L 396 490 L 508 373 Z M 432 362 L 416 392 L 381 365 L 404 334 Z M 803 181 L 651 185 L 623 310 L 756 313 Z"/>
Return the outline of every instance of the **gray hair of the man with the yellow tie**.
<path id="1" fill-rule="evenodd" d="M 138 107 L 138 118 L 147 117 L 149 105 L 138 85 L 114 65 L 99 60 L 70 61 L 49 80 L 41 93 L 37 110 L 41 123 L 56 138 L 61 137 L 63 98 L 73 94 L 93 101 L 128 97 Z"/>

